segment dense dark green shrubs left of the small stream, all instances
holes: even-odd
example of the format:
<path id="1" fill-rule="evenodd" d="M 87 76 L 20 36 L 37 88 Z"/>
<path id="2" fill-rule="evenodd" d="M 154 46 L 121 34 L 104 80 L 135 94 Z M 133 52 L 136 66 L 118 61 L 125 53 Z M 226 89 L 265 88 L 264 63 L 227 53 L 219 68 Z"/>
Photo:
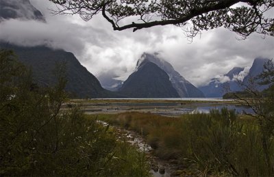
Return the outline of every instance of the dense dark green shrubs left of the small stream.
<path id="1" fill-rule="evenodd" d="M 112 128 L 90 120 L 66 101 L 64 67 L 42 88 L 0 51 L 0 176 L 149 176 L 145 154 L 116 141 Z"/>

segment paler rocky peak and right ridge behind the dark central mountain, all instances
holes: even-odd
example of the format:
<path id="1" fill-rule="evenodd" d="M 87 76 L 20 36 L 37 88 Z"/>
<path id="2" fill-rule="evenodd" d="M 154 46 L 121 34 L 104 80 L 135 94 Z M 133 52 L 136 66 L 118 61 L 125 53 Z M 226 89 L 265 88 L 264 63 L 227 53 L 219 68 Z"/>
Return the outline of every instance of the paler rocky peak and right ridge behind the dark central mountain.
<path id="1" fill-rule="evenodd" d="M 145 62 L 152 62 L 156 64 L 159 68 L 164 70 L 166 74 L 169 75 L 169 80 L 171 81 L 173 87 L 179 94 L 181 98 L 203 98 L 205 97 L 203 93 L 197 89 L 192 83 L 184 79 L 184 77 L 177 72 L 169 62 L 164 61 L 164 59 L 160 59 L 157 53 L 149 54 L 144 53 L 142 57 L 137 62 L 137 68 L 140 64 Z"/>

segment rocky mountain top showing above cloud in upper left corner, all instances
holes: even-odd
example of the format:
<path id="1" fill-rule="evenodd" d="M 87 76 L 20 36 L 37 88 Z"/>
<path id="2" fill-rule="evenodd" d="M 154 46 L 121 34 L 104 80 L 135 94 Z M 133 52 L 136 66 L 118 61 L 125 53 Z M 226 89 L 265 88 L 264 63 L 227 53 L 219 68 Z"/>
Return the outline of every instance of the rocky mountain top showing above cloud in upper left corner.
<path id="1" fill-rule="evenodd" d="M 45 22 L 42 13 L 29 0 L 0 0 L 0 21 L 10 18 Z"/>

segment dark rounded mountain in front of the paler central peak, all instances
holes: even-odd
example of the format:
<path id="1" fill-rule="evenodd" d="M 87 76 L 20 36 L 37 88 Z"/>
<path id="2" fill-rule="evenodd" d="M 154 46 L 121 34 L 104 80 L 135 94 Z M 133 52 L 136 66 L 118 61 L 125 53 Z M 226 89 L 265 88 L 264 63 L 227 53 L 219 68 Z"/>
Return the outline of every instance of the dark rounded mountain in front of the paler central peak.
<path id="1" fill-rule="evenodd" d="M 131 98 L 176 98 L 176 92 L 169 75 L 156 64 L 145 62 L 138 66 L 119 89 L 121 94 Z"/>

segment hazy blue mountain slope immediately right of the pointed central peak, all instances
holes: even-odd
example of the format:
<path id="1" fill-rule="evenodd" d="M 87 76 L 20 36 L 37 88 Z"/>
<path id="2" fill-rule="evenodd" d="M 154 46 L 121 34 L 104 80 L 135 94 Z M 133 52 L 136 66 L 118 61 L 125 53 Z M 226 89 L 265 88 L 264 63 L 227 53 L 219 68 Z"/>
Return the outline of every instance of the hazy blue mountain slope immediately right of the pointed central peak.
<path id="1" fill-rule="evenodd" d="M 228 77 L 229 81 L 221 83 L 219 79 L 213 78 L 208 85 L 199 87 L 199 90 L 201 90 L 207 98 L 221 98 L 223 94 L 228 91 L 227 87 L 230 87 L 231 90 L 238 91 L 240 88 L 233 78 L 243 70 L 244 68 L 235 67 L 224 75 L 224 77 Z"/>

